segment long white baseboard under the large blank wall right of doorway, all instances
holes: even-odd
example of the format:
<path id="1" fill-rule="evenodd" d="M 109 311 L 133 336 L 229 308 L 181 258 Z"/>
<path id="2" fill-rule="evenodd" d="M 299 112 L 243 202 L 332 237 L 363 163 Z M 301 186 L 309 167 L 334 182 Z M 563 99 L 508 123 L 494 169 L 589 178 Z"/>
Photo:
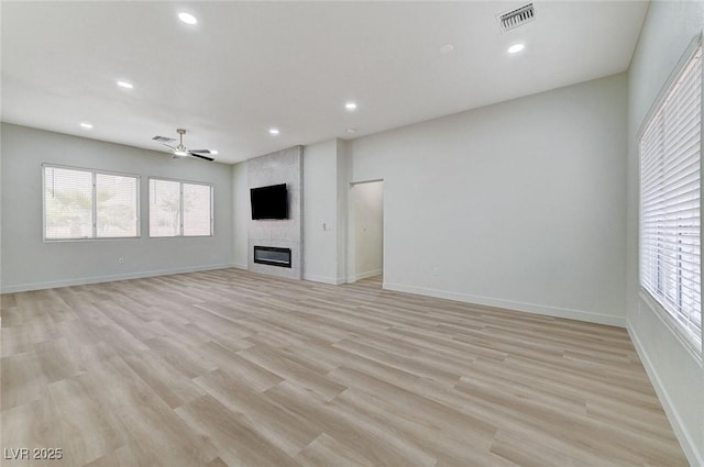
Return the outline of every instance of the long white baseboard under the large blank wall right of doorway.
<path id="1" fill-rule="evenodd" d="M 384 282 L 382 286 L 387 290 L 398 292 L 416 293 L 420 296 L 436 297 L 448 300 L 462 301 L 466 303 L 481 304 L 485 307 L 505 308 L 508 310 L 525 311 L 527 313 L 544 314 L 548 316 L 566 318 L 570 320 L 586 321 L 588 323 L 607 324 L 610 326 L 626 327 L 626 318 L 613 316 L 608 314 L 594 313 L 584 310 L 572 310 L 536 303 L 526 303 L 513 300 L 494 299 L 491 297 L 471 296 L 466 293 L 451 292 L 447 290 L 428 289 L 425 287 L 405 286 L 402 283 Z"/>

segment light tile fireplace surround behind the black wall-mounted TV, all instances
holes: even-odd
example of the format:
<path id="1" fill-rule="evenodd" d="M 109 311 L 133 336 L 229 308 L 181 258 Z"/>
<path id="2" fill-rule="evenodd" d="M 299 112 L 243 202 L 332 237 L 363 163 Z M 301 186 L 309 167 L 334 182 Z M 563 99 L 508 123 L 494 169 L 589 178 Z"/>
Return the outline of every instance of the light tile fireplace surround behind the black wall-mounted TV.
<path id="1" fill-rule="evenodd" d="M 288 219 L 250 220 L 248 268 L 253 273 L 300 279 L 302 276 L 302 146 L 278 151 L 248 162 L 249 188 L 286 184 Z M 257 249 L 255 262 L 254 248 Z M 283 252 L 288 252 L 288 265 L 282 267 Z M 262 262 L 262 258 L 264 259 Z"/>

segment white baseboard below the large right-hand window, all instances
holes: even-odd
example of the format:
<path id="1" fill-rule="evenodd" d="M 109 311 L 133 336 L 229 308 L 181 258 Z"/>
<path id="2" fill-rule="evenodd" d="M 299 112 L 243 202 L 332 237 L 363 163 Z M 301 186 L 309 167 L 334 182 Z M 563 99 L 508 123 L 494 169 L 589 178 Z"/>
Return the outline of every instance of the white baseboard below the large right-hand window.
<path id="1" fill-rule="evenodd" d="M 682 418 L 680 413 L 676 411 L 674 403 L 672 403 L 672 399 L 670 394 L 666 390 L 664 385 L 662 383 L 662 379 L 660 379 L 660 375 L 656 370 L 656 367 L 652 365 L 652 362 L 648 357 L 648 353 L 646 348 L 640 343 L 640 338 L 638 338 L 638 334 L 632 330 L 630 323 L 626 326 L 628 331 L 628 335 L 630 336 L 630 341 L 634 343 L 636 347 L 636 353 L 638 357 L 640 357 L 640 362 L 642 366 L 646 368 L 646 373 L 648 374 L 648 378 L 650 378 L 650 382 L 658 394 L 658 399 L 662 404 L 662 409 L 664 409 L 666 414 L 668 415 L 668 420 L 672 425 L 672 430 L 674 431 L 678 441 L 680 442 L 680 446 L 682 446 L 682 451 L 686 456 L 690 465 L 692 467 L 704 467 L 704 453 L 698 453 L 696 449 L 696 443 L 692 440 L 690 432 L 685 429 L 684 423 L 682 423 Z"/>

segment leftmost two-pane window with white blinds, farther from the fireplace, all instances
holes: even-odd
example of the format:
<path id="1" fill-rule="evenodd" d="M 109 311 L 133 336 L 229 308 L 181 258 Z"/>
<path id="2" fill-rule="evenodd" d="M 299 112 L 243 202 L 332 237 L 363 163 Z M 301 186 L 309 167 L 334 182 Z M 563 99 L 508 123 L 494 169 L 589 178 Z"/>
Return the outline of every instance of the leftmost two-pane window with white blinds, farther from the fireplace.
<path id="1" fill-rule="evenodd" d="M 140 236 L 133 175 L 44 165 L 44 240 Z"/>

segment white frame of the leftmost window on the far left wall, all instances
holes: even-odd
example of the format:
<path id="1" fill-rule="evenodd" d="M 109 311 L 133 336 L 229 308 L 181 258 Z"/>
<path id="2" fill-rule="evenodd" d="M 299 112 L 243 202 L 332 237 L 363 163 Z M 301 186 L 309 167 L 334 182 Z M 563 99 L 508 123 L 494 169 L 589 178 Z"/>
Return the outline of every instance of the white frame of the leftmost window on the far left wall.
<path id="1" fill-rule="evenodd" d="M 92 211 L 92 226 L 91 236 L 74 237 L 74 238 L 47 238 L 46 237 L 46 169 L 55 168 L 62 170 L 75 170 L 90 174 L 91 178 L 91 211 Z M 129 174 L 124 171 L 102 170 L 87 167 L 66 166 L 62 164 L 43 163 L 42 169 L 42 241 L 44 243 L 55 242 L 95 242 L 95 241 L 112 241 L 112 240 L 139 240 L 142 237 L 142 214 L 141 214 L 141 187 L 142 176 L 139 174 Z M 135 220 L 136 220 L 136 235 L 134 236 L 98 236 L 98 202 L 96 192 L 96 180 L 98 175 L 112 175 L 118 177 L 134 178 L 136 180 L 135 190 Z"/>

